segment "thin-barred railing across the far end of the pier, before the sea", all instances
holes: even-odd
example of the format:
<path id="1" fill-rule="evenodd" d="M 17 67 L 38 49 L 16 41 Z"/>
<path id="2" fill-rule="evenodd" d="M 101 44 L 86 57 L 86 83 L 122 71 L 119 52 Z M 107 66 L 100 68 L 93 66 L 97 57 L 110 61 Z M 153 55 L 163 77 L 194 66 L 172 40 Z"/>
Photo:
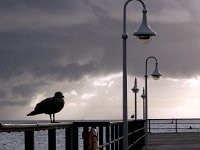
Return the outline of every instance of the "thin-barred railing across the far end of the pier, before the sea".
<path id="1" fill-rule="evenodd" d="M 200 119 L 149 119 L 148 132 L 150 133 L 182 133 L 200 132 Z"/>

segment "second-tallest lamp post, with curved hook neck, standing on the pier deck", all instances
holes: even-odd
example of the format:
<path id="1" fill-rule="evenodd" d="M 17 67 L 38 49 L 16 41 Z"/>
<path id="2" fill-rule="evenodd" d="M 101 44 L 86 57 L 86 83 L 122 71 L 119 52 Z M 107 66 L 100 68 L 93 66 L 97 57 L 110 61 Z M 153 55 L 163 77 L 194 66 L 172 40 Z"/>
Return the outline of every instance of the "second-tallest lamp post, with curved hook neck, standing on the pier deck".
<path id="1" fill-rule="evenodd" d="M 147 91 L 148 74 L 147 74 L 147 64 L 148 64 L 148 60 L 149 59 L 154 59 L 156 61 L 155 70 L 151 74 L 153 79 L 154 80 L 158 80 L 158 79 L 160 79 L 160 76 L 162 76 L 162 74 L 158 71 L 158 61 L 157 61 L 156 57 L 154 57 L 154 56 L 148 57 L 146 59 L 146 66 L 145 66 L 145 120 L 146 120 L 146 125 L 145 125 L 145 129 L 146 129 L 146 132 L 145 132 L 145 143 L 146 143 L 146 146 L 148 145 L 148 138 L 147 138 L 147 133 L 148 133 L 148 125 L 147 125 L 147 121 L 148 121 L 148 91 Z"/>

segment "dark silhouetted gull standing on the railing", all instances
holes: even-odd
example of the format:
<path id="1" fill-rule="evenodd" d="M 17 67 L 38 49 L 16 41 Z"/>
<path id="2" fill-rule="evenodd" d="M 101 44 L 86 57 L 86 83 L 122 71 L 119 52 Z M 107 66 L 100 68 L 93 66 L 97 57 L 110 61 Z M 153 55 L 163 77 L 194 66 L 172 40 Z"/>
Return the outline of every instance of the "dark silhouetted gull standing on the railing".
<path id="1" fill-rule="evenodd" d="M 54 97 L 46 98 L 35 106 L 35 109 L 27 116 L 34 116 L 38 114 L 48 114 L 51 123 L 55 123 L 55 113 L 61 111 L 64 107 L 65 101 L 61 92 L 56 92 Z M 52 119 L 53 115 L 53 119 Z"/>

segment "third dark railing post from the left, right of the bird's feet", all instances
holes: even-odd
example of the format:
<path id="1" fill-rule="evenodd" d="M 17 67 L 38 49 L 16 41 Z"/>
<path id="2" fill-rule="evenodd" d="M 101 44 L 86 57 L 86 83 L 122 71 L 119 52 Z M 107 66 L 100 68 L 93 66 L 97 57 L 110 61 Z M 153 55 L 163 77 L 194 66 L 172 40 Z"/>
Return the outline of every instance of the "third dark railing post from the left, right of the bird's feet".
<path id="1" fill-rule="evenodd" d="M 66 150 L 73 150 L 72 149 L 72 128 L 65 128 L 65 149 Z"/>

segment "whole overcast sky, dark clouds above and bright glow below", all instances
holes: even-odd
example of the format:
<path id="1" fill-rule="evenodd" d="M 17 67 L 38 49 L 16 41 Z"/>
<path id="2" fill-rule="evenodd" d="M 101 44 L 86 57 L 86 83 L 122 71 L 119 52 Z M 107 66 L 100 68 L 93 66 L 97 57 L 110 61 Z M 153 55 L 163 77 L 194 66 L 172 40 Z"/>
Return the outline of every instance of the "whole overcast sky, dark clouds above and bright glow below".
<path id="1" fill-rule="evenodd" d="M 0 0 L 0 119 L 27 117 L 56 91 L 66 105 L 57 119 L 122 118 L 122 12 L 124 0 Z M 127 7 L 128 113 L 138 78 L 142 117 L 145 59 L 155 56 L 163 77 L 149 77 L 149 117 L 200 117 L 200 1 L 144 0 L 157 32 L 151 43 L 132 33 L 142 19 Z M 148 73 L 155 62 L 149 61 Z"/>

